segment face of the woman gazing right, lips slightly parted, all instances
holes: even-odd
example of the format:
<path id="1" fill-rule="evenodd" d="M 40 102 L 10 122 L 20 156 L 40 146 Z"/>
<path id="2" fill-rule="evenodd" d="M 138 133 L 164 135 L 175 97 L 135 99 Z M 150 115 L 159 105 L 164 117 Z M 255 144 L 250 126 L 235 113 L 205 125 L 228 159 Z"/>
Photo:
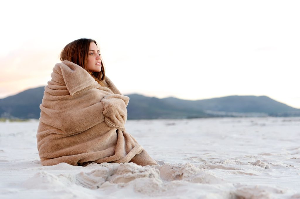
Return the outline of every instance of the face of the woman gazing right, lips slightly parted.
<path id="1" fill-rule="evenodd" d="M 101 71 L 101 55 L 95 42 L 90 43 L 88 48 L 88 70 L 90 72 L 100 72 Z"/>

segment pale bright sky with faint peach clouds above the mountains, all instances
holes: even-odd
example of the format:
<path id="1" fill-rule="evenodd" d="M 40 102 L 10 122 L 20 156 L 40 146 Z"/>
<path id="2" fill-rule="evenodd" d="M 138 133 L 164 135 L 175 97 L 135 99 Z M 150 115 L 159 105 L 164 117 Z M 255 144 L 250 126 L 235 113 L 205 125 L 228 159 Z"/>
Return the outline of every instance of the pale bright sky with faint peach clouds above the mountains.
<path id="1" fill-rule="evenodd" d="M 51 79 L 69 42 L 98 42 L 123 94 L 266 95 L 300 108 L 300 1 L 6 1 L 0 98 Z"/>

